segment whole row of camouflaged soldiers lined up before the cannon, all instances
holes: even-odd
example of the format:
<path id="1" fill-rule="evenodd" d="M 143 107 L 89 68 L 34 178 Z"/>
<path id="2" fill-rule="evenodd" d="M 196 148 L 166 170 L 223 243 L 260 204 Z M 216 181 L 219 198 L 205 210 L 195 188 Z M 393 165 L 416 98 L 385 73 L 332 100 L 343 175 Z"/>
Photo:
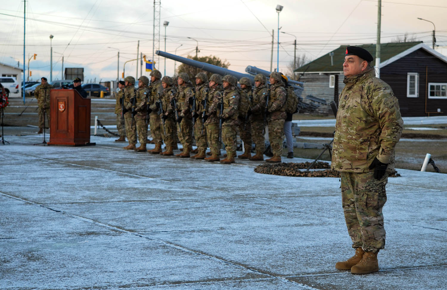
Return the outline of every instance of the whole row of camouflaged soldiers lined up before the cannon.
<path id="1" fill-rule="evenodd" d="M 259 161 L 264 160 L 267 125 L 273 157 L 266 161 L 281 162 L 287 83 L 281 73 L 270 74 L 270 87 L 267 87 L 266 76 L 258 74 L 253 88 L 246 77 L 239 80 L 238 88 L 234 76 L 213 74 L 208 80 L 203 72 L 195 76 L 195 86 L 184 72 L 177 80 L 170 76 L 162 78 L 157 70 L 152 71 L 150 77 L 149 81 L 148 77 L 140 76 L 138 89 L 132 76 L 120 82 L 122 89 L 118 93 L 115 113 L 118 122 L 124 119 L 129 141 L 124 149 L 172 156 L 173 150 L 178 149 L 177 140 L 180 140 L 183 148 L 176 155 L 178 157 L 231 164 L 235 162 L 236 135 L 239 134 L 244 142 L 244 153 L 237 157 Z M 155 144 L 152 150 L 146 148 L 148 124 Z M 123 131 L 119 132 L 117 141 L 125 141 Z M 139 147 L 136 147 L 137 136 Z M 197 145 L 195 150 L 193 139 Z M 165 151 L 162 151 L 163 142 Z M 222 143 L 227 154 L 221 160 Z M 251 154 L 252 143 L 256 148 L 254 156 Z M 207 153 L 208 145 L 211 152 Z M 195 155 L 191 156 L 191 153 Z"/>

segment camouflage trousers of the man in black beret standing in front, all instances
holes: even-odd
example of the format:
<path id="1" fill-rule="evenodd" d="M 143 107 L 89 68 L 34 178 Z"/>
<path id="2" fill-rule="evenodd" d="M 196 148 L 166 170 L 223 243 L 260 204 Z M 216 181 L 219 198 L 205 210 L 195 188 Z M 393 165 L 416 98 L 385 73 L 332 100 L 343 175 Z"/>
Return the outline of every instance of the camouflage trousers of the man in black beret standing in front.
<path id="1" fill-rule="evenodd" d="M 385 247 L 382 208 L 387 201 L 388 172 L 381 180 L 373 175 L 374 171 L 340 172 L 343 212 L 352 248 L 361 247 L 366 252 L 377 252 Z"/>

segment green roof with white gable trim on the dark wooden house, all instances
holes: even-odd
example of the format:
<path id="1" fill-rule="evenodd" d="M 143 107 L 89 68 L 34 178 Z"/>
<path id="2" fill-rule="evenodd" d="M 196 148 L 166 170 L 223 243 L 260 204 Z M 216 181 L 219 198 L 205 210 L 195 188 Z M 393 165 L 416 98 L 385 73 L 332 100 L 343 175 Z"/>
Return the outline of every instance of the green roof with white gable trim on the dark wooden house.
<path id="1" fill-rule="evenodd" d="M 297 73 L 342 73 L 343 72 L 343 62 L 345 60 L 345 52 L 346 46 L 342 45 L 335 50 L 319 57 L 311 61 L 310 63 L 305 64 L 304 66 L 298 67 L 295 69 Z M 371 62 L 371 65 L 375 66 L 375 44 L 363 44 L 358 45 L 368 50 L 373 56 L 374 60 Z M 389 43 L 381 43 L 380 44 L 380 67 L 384 67 L 393 61 L 400 59 L 401 57 L 408 55 L 416 49 L 423 48 L 436 57 L 443 59 L 447 62 L 445 56 L 439 54 L 435 50 L 431 49 L 429 46 L 426 46 L 421 41 L 417 42 L 389 42 Z M 431 51 L 432 50 L 432 51 Z M 331 56 L 330 54 L 333 52 L 333 64 L 331 65 Z"/>

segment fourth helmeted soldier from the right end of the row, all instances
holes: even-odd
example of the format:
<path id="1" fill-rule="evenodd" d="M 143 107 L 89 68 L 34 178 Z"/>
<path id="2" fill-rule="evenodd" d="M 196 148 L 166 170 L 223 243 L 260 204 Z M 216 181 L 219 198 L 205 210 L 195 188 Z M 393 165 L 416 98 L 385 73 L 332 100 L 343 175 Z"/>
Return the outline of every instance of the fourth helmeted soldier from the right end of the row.
<path id="1" fill-rule="evenodd" d="M 236 156 L 236 130 L 239 125 L 238 106 L 240 101 L 237 91 L 237 79 L 231 75 L 222 78 L 223 83 L 223 112 L 222 112 L 222 141 L 225 144 L 227 158 L 220 160 L 220 163 L 234 163 Z"/>

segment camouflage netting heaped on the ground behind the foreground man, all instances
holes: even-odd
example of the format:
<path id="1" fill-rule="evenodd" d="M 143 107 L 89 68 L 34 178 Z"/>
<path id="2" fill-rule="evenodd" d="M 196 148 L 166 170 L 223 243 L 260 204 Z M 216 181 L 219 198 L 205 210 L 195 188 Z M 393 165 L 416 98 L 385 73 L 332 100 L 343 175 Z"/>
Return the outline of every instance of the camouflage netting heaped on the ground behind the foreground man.
<path id="1" fill-rule="evenodd" d="M 340 173 L 330 169 L 330 165 L 327 162 L 317 161 L 313 164 L 312 169 L 324 169 L 313 171 L 301 171 L 300 169 L 307 169 L 311 162 L 304 163 L 276 163 L 276 164 L 261 164 L 254 168 L 257 173 L 274 174 L 282 176 L 293 177 L 340 177 Z M 327 168 L 327 169 L 325 169 Z M 399 173 L 392 172 L 389 177 L 401 176 Z"/>

